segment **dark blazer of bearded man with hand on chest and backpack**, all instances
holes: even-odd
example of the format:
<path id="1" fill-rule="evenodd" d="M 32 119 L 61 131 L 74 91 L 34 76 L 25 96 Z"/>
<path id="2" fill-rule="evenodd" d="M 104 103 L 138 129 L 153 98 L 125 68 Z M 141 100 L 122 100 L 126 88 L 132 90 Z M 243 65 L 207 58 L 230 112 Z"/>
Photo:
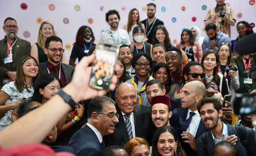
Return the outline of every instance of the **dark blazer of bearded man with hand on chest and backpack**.
<path id="1" fill-rule="evenodd" d="M 226 124 L 228 126 L 228 135 L 229 136 L 235 134 L 238 137 L 235 146 L 238 148 L 239 156 L 247 155 L 245 147 L 241 143 L 242 140 L 239 138 L 239 135 L 237 134 L 237 131 L 235 130 L 235 126 L 229 125 L 227 123 L 224 123 L 224 124 Z M 212 156 L 213 155 L 213 148 L 215 146 L 215 143 L 213 141 L 211 131 L 206 132 L 206 133 L 208 133 L 207 134 L 207 143 L 208 143 L 207 154 L 208 154 L 208 156 Z M 255 131 L 251 128 L 246 127 L 246 139 L 247 139 L 247 141 L 250 142 L 250 147 L 248 147 L 248 149 L 250 149 L 252 154 L 256 153 L 256 148 L 255 148 L 256 143 L 255 143 L 254 138 L 255 138 Z M 205 151 L 203 149 L 203 142 L 202 142 L 201 137 L 196 139 L 196 148 L 197 148 L 198 155 L 200 155 L 200 156 L 205 155 Z"/>

